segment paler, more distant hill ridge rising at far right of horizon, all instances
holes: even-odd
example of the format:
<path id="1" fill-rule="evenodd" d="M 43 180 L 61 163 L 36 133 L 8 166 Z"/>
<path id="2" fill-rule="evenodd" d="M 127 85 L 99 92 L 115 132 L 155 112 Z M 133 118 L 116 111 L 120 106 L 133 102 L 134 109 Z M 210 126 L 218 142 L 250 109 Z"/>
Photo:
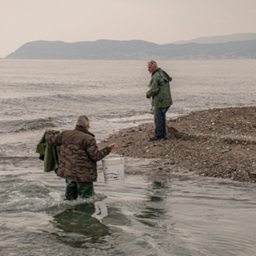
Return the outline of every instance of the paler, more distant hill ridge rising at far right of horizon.
<path id="1" fill-rule="evenodd" d="M 194 38 L 188 41 L 176 41 L 171 42 L 176 45 L 196 42 L 196 43 L 219 43 L 219 42 L 237 42 L 237 41 L 246 41 L 246 40 L 255 40 L 256 33 L 246 33 L 246 34 L 229 34 L 229 35 L 218 35 L 213 37 L 201 37 L 201 38 Z"/>

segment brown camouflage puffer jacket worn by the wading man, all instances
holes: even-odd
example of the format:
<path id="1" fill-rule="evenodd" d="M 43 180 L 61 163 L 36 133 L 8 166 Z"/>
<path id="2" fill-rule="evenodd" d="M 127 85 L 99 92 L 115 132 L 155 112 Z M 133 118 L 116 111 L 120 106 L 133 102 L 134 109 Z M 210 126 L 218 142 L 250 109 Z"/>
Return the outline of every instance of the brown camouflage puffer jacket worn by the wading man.
<path id="1" fill-rule="evenodd" d="M 97 161 L 110 154 L 110 147 L 98 150 L 94 134 L 80 126 L 55 135 L 45 135 L 50 146 L 62 146 L 57 175 L 75 182 L 97 182 Z"/>

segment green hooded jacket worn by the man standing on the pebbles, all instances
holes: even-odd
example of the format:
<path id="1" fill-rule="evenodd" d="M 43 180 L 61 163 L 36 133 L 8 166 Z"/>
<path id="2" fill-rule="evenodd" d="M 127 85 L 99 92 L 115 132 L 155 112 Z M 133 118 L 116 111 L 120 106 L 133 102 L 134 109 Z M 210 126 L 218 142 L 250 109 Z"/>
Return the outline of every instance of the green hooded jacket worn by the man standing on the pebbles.
<path id="1" fill-rule="evenodd" d="M 172 80 L 169 74 L 158 67 L 151 75 L 151 88 L 147 91 L 146 97 L 153 98 L 153 106 L 162 108 L 173 105 L 170 94 L 170 84 Z"/>

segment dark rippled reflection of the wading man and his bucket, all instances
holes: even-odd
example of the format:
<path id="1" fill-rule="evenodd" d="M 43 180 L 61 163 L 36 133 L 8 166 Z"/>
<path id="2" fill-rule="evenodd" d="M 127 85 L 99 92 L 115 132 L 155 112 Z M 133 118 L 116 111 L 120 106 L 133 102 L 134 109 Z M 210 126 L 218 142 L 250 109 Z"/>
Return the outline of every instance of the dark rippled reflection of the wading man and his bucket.
<path id="1" fill-rule="evenodd" d="M 107 236 L 113 233 L 111 226 L 130 226 L 130 220 L 120 209 L 106 206 L 102 201 L 74 205 L 54 215 L 50 223 L 62 230 L 58 231 L 61 242 L 77 248 L 88 247 L 90 243 L 106 242 Z M 71 234 L 82 234 L 82 238 L 78 236 L 70 240 Z"/>

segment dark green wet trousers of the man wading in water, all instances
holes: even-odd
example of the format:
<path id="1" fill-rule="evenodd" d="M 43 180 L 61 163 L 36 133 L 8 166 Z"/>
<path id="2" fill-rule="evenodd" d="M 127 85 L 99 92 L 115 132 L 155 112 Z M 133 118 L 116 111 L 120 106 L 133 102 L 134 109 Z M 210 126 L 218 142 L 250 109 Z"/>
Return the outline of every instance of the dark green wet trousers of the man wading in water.
<path id="1" fill-rule="evenodd" d="M 66 179 L 66 200 L 75 200 L 79 197 L 89 198 L 94 194 L 93 182 L 74 182 Z"/>

